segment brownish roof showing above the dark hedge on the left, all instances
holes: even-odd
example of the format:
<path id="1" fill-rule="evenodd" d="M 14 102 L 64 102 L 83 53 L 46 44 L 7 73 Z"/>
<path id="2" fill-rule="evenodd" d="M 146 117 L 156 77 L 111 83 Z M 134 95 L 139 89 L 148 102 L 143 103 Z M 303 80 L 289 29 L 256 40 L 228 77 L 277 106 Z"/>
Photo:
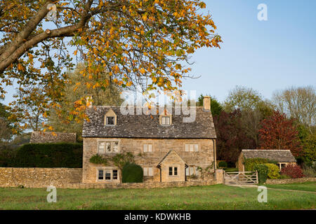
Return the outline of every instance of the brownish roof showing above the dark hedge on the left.
<path id="1" fill-rule="evenodd" d="M 58 143 L 58 142 L 76 142 L 76 133 L 62 132 L 32 132 L 29 143 Z"/>

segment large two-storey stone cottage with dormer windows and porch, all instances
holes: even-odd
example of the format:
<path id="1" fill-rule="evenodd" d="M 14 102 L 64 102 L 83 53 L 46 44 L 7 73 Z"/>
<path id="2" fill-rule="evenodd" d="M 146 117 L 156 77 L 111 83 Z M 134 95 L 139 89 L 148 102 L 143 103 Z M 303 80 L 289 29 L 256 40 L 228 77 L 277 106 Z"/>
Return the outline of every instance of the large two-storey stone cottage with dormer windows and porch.
<path id="1" fill-rule="evenodd" d="M 195 120 L 187 115 L 123 115 L 120 107 L 88 106 L 84 122 L 83 183 L 119 183 L 119 169 L 89 162 L 93 155 L 133 153 L 143 167 L 144 181 L 173 182 L 201 179 L 198 167 L 216 169 L 216 132 L 211 99 L 195 108 Z M 134 112 L 136 107 L 133 107 Z M 136 113 L 134 113 L 136 114 Z M 211 177 L 210 177 L 211 178 Z"/>

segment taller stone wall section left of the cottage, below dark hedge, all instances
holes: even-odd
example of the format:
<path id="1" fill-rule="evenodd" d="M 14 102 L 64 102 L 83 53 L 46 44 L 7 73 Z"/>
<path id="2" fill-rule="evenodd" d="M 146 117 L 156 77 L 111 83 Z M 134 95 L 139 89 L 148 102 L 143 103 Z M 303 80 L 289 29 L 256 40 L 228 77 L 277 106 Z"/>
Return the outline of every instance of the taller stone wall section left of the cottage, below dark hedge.
<path id="1" fill-rule="evenodd" d="M 0 187 L 42 188 L 80 183 L 81 168 L 11 168 L 0 167 Z"/>

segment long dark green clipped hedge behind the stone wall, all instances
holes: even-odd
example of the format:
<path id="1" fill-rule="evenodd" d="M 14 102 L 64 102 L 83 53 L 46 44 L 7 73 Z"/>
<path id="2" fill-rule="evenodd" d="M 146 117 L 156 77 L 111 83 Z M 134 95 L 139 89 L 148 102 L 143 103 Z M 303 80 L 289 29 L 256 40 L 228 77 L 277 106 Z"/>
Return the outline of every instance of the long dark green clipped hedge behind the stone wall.
<path id="1" fill-rule="evenodd" d="M 82 144 L 25 144 L 8 167 L 82 167 Z"/>

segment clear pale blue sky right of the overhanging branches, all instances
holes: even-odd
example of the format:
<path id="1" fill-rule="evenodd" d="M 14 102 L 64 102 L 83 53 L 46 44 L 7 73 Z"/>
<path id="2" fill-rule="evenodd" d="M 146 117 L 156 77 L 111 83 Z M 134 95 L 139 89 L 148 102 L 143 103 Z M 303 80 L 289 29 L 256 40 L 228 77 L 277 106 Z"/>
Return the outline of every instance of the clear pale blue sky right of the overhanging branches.
<path id="1" fill-rule="evenodd" d="M 202 77 L 185 80 L 185 90 L 223 102 L 235 85 L 252 87 L 268 99 L 292 85 L 316 85 L 315 0 L 204 2 L 223 43 L 221 49 L 203 48 L 192 56 L 192 73 Z M 268 21 L 257 19 L 259 3 L 268 6 Z"/>

